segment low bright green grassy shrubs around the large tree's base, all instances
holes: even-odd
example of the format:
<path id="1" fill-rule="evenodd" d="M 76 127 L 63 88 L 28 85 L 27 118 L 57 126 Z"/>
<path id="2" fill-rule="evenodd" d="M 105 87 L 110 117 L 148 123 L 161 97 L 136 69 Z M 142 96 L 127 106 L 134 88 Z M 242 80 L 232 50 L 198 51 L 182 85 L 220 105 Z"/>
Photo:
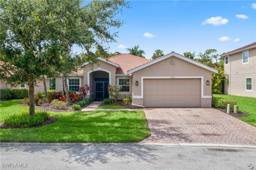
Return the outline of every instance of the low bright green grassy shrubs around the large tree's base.
<path id="1" fill-rule="evenodd" d="M 34 116 L 28 112 L 10 115 L 4 119 L 4 124 L 11 127 L 30 127 L 40 125 L 49 118 L 50 113 L 46 111 L 36 111 Z"/>

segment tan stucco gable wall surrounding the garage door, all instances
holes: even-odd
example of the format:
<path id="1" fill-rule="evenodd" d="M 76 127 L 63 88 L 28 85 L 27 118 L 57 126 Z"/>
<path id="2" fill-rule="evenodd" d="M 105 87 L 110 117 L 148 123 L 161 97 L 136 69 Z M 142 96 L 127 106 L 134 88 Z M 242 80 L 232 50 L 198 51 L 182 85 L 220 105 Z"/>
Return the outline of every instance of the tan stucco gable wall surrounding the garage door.
<path id="1" fill-rule="evenodd" d="M 171 60 L 174 60 L 175 65 L 170 65 Z M 169 57 L 158 63 L 140 69 L 133 73 L 133 96 L 141 96 L 141 77 L 177 77 L 177 76 L 202 76 L 203 80 L 203 95 L 211 96 L 211 76 L 212 73 L 202 67 L 198 67 L 192 63 L 188 63 L 177 57 Z M 206 80 L 210 81 L 210 85 L 206 85 Z M 135 82 L 138 81 L 139 85 L 135 86 Z M 202 87 L 201 87 L 202 88 Z M 201 94 L 200 94 L 201 95 Z M 133 99 L 133 104 L 143 105 L 143 99 Z M 211 107 L 211 99 L 201 99 L 201 107 Z"/>

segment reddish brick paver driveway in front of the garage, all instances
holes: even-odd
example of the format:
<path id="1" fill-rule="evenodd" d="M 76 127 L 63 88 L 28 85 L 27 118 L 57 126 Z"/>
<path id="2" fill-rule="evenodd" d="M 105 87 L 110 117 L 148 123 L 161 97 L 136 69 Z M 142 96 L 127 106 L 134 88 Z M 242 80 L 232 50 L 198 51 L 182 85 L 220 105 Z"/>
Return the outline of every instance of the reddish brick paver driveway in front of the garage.
<path id="1" fill-rule="evenodd" d="M 152 135 L 142 143 L 256 145 L 256 127 L 212 108 L 145 108 Z"/>

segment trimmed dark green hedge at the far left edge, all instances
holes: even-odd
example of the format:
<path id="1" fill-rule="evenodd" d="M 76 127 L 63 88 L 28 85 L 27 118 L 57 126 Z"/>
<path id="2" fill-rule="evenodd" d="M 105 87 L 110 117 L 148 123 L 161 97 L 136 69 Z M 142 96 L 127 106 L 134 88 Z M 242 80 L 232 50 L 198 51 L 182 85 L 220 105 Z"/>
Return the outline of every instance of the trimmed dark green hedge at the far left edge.
<path id="1" fill-rule="evenodd" d="M 1 99 L 24 99 L 28 97 L 27 88 L 1 89 Z"/>

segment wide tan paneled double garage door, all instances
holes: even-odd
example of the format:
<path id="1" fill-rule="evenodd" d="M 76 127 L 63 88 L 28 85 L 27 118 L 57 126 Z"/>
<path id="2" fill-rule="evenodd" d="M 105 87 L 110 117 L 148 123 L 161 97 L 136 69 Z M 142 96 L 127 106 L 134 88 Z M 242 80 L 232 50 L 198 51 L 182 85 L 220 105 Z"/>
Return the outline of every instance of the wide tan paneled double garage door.
<path id="1" fill-rule="evenodd" d="M 146 107 L 200 107 L 201 79 L 144 79 Z"/>

